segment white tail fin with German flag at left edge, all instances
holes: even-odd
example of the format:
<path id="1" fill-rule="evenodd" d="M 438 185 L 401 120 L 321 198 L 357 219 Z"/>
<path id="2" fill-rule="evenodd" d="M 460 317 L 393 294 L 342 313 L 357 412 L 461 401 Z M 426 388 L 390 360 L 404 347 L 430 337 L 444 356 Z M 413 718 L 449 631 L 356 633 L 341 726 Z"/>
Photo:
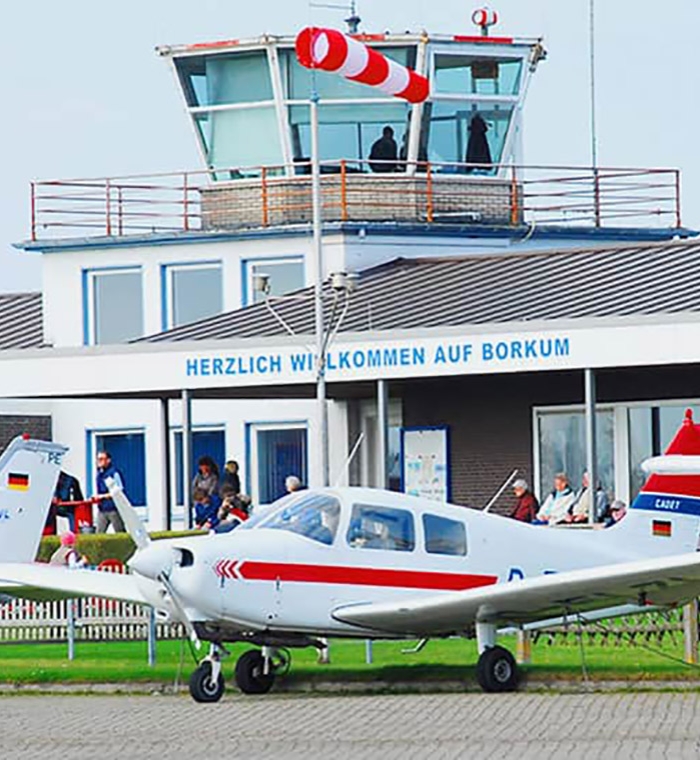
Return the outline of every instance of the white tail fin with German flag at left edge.
<path id="1" fill-rule="evenodd" d="M 67 447 L 22 436 L 0 455 L 0 562 L 32 562 Z"/>

